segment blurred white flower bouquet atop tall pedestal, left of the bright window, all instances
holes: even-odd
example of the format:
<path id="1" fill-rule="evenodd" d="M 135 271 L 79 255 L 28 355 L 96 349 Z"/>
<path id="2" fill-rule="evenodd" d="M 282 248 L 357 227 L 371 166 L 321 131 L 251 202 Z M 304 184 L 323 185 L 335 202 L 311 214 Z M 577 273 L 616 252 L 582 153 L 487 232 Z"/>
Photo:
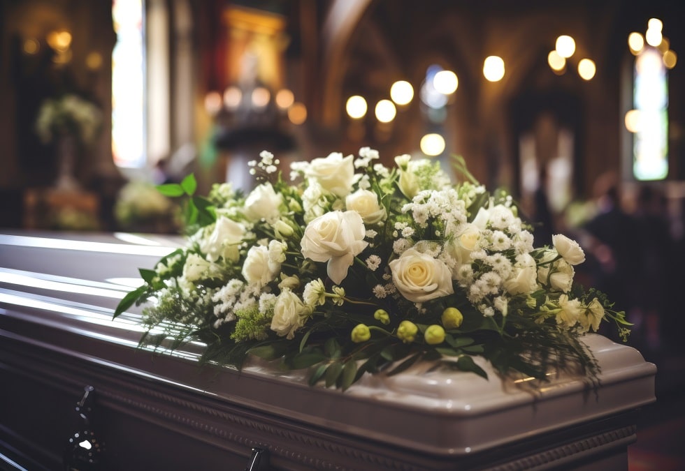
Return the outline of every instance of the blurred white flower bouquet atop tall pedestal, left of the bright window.
<path id="1" fill-rule="evenodd" d="M 78 95 L 49 98 L 41 105 L 36 119 L 36 133 L 47 144 L 59 135 L 73 135 L 78 142 L 90 145 L 99 134 L 102 114 L 96 105 Z"/>

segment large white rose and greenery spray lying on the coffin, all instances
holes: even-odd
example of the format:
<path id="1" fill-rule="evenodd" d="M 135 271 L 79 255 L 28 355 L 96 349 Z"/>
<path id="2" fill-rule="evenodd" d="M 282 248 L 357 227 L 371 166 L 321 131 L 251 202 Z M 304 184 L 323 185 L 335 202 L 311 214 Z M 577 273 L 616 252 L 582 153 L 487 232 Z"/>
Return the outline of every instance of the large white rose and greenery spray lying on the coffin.
<path id="1" fill-rule="evenodd" d="M 140 269 L 115 317 L 144 303 L 142 344 L 201 341 L 203 361 L 279 359 L 343 390 L 421 359 L 486 377 L 477 355 L 501 374 L 596 378 L 582 335 L 612 321 L 625 339 L 629 324 L 574 283 L 575 241 L 535 248 L 512 197 L 487 192 L 461 157 L 456 184 L 432 160 L 377 160 L 363 148 L 294 163 L 289 183 L 264 151 L 247 195 L 215 184 L 196 196 L 192 174 L 159 186 L 187 195 L 187 245 Z"/>

